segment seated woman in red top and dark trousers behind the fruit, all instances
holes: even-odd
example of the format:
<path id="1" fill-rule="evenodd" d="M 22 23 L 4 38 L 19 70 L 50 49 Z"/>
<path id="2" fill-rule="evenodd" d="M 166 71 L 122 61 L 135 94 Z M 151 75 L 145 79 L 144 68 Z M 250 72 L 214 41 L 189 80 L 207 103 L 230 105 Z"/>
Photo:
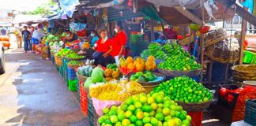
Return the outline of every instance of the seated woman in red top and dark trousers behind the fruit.
<path id="1" fill-rule="evenodd" d="M 113 63 L 113 57 L 111 57 L 112 45 L 111 39 L 107 38 L 107 30 L 100 31 L 100 39 L 92 47 L 96 50 L 92 57 L 95 59 L 96 65 L 106 66 L 107 64 Z"/>

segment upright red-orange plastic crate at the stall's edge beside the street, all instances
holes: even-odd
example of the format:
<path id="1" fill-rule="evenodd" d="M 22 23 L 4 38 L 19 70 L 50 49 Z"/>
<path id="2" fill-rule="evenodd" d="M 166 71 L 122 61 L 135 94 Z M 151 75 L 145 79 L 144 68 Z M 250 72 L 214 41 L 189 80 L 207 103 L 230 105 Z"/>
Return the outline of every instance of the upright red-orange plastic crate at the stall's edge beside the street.
<path id="1" fill-rule="evenodd" d="M 79 83 L 79 84 L 80 84 L 81 110 L 83 113 L 88 115 L 87 93 L 85 92 L 84 83 Z"/>

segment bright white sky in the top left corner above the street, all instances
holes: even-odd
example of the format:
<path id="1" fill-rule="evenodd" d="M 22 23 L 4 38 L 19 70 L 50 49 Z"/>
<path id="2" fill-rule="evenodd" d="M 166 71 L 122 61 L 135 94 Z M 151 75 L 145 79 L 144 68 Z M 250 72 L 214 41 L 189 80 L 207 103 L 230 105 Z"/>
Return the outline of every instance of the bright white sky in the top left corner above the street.
<path id="1" fill-rule="evenodd" d="M 49 0 L 0 0 L 0 9 L 14 9 L 19 11 L 32 11 L 37 6 Z"/>

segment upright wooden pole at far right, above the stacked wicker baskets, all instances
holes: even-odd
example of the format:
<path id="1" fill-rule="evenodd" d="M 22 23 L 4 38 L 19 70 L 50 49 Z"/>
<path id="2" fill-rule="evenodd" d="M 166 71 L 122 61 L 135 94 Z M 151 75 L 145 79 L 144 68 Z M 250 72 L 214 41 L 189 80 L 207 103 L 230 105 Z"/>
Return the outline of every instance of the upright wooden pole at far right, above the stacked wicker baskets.
<path id="1" fill-rule="evenodd" d="M 248 11 L 247 8 L 244 8 Z M 241 38 L 240 38 L 240 50 L 239 50 L 239 65 L 243 65 L 243 46 L 244 46 L 244 40 L 245 36 L 247 35 L 247 20 L 243 18 L 242 20 L 242 31 L 241 31 Z"/>

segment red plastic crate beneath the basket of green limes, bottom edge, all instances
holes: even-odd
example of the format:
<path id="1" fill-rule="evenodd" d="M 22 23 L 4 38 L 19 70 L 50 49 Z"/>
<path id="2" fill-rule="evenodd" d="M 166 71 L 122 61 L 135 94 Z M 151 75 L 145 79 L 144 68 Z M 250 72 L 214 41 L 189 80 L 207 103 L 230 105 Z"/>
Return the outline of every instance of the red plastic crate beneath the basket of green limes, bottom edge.
<path id="1" fill-rule="evenodd" d="M 188 112 L 187 114 L 192 118 L 191 126 L 202 126 L 202 112 Z"/>

